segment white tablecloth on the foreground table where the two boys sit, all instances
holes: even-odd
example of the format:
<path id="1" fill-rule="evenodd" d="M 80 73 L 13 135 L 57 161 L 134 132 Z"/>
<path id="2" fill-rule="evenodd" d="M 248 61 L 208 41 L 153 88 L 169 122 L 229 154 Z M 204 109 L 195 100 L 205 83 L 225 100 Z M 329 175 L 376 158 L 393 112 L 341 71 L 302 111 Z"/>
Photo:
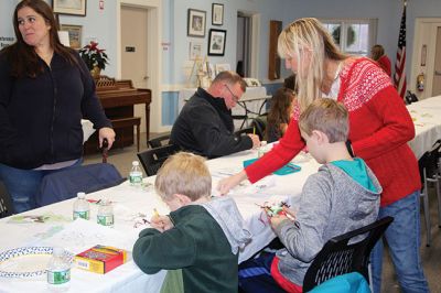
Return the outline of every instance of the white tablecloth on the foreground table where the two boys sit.
<path id="1" fill-rule="evenodd" d="M 244 151 L 207 161 L 213 175 L 213 186 L 216 186 L 222 177 L 241 170 L 244 160 L 256 156 L 257 151 Z M 255 185 L 247 183 L 232 191 L 232 195 L 254 235 L 252 241 L 240 251 L 239 261 L 249 258 L 276 237 L 270 226 L 265 223 L 265 217 L 257 204 L 288 200 L 295 206 L 295 198 L 300 195 L 306 177 L 316 172 L 319 167 L 313 160 L 299 163 L 299 165 L 302 166 L 302 171 L 298 173 L 284 176 L 270 175 Z M 154 176 L 144 178 L 144 181 L 152 183 Z M 139 231 L 147 227 L 133 227 L 136 215 L 141 213 L 150 218 L 153 208 L 157 208 L 160 214 L 169 213 L 166 205 L 154 193 L 152 185 L 133 187 L 126 182 L 112 188 L 88 194 L 87 198 L 109 198 L 114 202 L 115 228 L 105 228 L 112 235 L 111 237 L 105 237 L 104 232 L 87 235 L 87 231 L 95 229 L 93 226 L 97 215 L 97 206 L 92 204 L 90 220 L 83 221 L 90 225 L 90 228 L 83 229 L 79 238 L 72 238 L 77 234 L 72 234 L 69 229 L 77 227 L 78 221 L 72 223 L 71 220 L 74 199 L 69 199 L 22 214 L 47 215 L 50 213 L 53 216 L 64 216 L 65 220 L 58 218 L 44 224 L 13 224 L 10 223 L 11 217 L 0 219 L 0 230 L 2 231 L 0 252 L 26 246 L 63 246 L 68 251 L 77 253 L 98 243 L 131 250 Z M 83 223 L 79 221 L 79 224 Z M 147 275 L 131 260 L 104 275 L 74 268 L 68 292 L 159 292 L 164 275 L 164 271 Z M 0 279 L 0 292 L 47 292 L 47 285 L 42 279 Z"/>

